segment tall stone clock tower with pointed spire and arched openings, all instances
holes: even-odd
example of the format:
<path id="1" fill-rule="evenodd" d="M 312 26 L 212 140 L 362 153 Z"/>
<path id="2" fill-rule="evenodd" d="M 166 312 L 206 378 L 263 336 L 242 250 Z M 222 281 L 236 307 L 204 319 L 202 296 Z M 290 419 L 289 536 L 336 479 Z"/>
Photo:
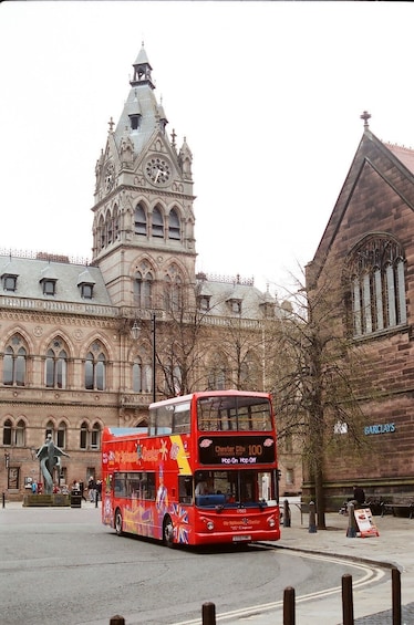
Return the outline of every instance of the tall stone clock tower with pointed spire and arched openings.
<path id="1" fill-rule="evenodd" d="M 163 308 L 166 285 L 195 284 L 193 156 L 167 135 L 144 45 L 133 67 L 96 163 L 93 264 L 114 305 L 147 311 Z"/>

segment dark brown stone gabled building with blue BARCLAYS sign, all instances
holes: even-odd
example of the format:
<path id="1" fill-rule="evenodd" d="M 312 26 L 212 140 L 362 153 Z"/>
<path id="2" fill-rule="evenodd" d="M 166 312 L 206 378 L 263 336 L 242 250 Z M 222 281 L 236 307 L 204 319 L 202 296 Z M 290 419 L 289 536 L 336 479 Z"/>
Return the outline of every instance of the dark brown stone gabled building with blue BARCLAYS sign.
<path id="1" fill-rule="evenodd" d="M 342 451 L 327 457 L 328 501 L 414 493 L 414 152 L 381 142 L 368 124 L 311 263 L 317 293 L 331 281 L 325 329 L 352 344 L 356 431 L 344 419 Z M 338 426 L 338 424 L 337 424 Z M 362 447 L 355 451 L 352 436 Z"/>

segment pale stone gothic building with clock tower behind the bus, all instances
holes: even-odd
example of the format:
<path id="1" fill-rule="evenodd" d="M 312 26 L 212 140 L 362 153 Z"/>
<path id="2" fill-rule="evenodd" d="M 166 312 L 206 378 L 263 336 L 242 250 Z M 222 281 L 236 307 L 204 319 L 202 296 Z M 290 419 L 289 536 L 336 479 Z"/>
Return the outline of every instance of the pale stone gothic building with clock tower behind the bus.
<path id="1" fill-rule="evenodd" d="M 154 398 L 268 387 L 278 314 L 251 280 L 196 274 L 193 155 L 167 135 L 144 48 L 96 163 L 93 256 L 0 256 L 0 488 L 21 498 L 37 450 L 65 450 L 59 480 L 100 477 L 105 425 L 146 423 Z M 288 471 L 298 490 L 301 471 Z M 58 478 L 56 478 L 58 479 Z"/>

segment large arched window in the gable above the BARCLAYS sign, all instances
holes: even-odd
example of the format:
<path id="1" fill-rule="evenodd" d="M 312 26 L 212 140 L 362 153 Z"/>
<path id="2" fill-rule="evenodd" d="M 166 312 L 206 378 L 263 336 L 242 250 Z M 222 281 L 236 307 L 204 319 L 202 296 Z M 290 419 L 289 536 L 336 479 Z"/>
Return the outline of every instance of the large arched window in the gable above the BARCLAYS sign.
<path id="1" fill-rule="evenodd" d="M 365 238 L 350 254 L 350 319 L 354 336 L 406 324 L 405 256 L 392 237 Z"/>

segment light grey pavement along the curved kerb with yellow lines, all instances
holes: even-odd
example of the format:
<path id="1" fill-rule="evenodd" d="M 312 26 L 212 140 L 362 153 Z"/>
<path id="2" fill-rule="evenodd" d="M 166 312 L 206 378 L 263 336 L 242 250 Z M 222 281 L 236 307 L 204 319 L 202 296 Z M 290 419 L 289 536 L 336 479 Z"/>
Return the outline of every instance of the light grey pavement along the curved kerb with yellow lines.
<path id="1" fill-rule="evenodd" d="M 301 513 L 298 500 L 290 499 L 290 527 L 281 528 L 280 541 L 270 543 L 281 550 L 309 556 L 329 556 L 349 560 L 365 571 L 355 574 L 352 587 L 354 623 L 358 625 L 395 625 L 392 613 L 392 569 L 401 575 L 401 625 L 414 625 L 414 519 L 386 514 L 373 517 L 379 535 L 361 538 L 349 531 L 349 517 L 338 512 L 325 514 L 325 530 L 309 528 L 309 515 Z M 93 503 L 82 503 L 92 508 Z M 282 502 L 281 502 L 282 506 Z M 7 502 L 7 508 L 21 508 L 20 503 Z M 100 503 L 101 507 L 101 503 Z M 371 572 L 370 572 L 371 571 Z M 356 572 L 356 570 L 355 570 Z M 325 593 L 304 596 L 296 594 L 296 625 L 339 625 L 342 614 L 342 574 L 339 564 L 338 579 L 332 579 L 332 588 Z M 229 625 L 277 625 L 283 623 L 283 597 L 273 604 L 259 606 L 250 613 L 240 611 L 227 615 L 216 614 L 217 623 Z M 200 621 L 187 622 L 196 624 Z M 400 623 L 400 622 L 399 622 Z M 290 623 L 289 623 L 290 625 Z"/>

